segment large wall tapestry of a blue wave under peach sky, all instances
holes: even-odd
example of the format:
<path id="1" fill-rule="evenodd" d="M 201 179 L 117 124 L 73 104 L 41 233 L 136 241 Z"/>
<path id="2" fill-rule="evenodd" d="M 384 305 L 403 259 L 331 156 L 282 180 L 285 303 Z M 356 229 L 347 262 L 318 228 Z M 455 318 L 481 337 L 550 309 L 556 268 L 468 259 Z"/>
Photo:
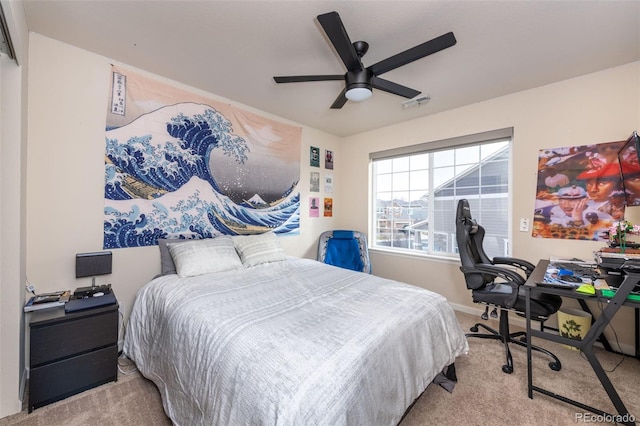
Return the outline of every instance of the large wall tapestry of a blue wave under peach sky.
<path id="1" fill-rule="evenodd" d="M 302 128 L 113 67 L 104 248 L 298 234 Z"/>

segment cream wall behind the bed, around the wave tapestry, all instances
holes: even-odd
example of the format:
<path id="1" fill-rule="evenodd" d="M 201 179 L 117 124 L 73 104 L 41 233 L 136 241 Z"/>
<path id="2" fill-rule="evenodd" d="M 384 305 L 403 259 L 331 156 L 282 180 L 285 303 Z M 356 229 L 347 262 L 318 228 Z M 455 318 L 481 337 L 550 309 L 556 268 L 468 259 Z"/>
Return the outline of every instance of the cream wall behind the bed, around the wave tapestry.
<path id="1" fill-rule="evenodd" d="M 102 250 L 105 117 L 113 61 L 33 33 L 29 61 L 27 276 L 40 291 L 73 290 L 90 283 L 90 278 L 75 279 L 75 254 Z M 340 145 L 337 137 L 307 127 L 302 139 L 300 235 L 281 242 L 288 254 L 315 258 L 319 233 L 333 228 L 336 218 L 307 215 L 309 146 L 337 151 Z M 113 274 L 98 277 L 97 283 L 110 282 L 128 313 L 136 291 L 160 272 L 159 250 L 117 249 L 113 257 Z"/>

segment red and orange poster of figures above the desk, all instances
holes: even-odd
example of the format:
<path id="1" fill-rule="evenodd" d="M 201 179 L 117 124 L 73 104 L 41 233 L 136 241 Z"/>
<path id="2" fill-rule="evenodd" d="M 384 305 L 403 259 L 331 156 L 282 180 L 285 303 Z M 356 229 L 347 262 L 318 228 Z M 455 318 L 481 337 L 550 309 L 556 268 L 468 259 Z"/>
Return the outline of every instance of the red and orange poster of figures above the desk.
<path id="1" fill-rule="evenodd" d="M 540 150 L 532 235 L 608 241 L 624 218 L 618 151 L 624 141 Z"/>

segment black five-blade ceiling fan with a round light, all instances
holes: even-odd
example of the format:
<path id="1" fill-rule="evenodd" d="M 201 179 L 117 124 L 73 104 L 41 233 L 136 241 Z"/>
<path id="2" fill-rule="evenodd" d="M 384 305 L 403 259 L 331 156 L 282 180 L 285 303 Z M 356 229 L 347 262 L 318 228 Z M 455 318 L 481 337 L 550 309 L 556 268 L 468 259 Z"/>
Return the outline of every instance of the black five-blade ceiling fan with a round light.
<path id="1" fill-rule="evenodd" d="M 333 109 L 342 108 L 347 100 L 367 99 L 374 88 L 405 98 L 418 96 L 421 92 L 378 76 L 456 44 L 456 38 L 452 32 L 449 32 L 365 68 L 361 58 L 367 53 L 369 44 L 365 41 L 351 43 L 338 12 L 318 15 L 318 21 L 347 67 L 347 72 L 344 75 L 297 75 L 273 77 L 273 79 L 276 83 L 344 80 L 345 87 L 331 105 Z"/>

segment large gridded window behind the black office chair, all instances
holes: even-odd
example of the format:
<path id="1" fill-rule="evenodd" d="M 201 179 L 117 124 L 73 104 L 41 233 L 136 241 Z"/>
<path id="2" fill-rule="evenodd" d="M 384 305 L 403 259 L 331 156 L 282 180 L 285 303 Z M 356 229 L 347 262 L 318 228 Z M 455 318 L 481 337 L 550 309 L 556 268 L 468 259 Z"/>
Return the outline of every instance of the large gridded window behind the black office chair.
<path id="1" fill-rule="evenodd" d="M 466 198 L 490 257 L 508 254 L 513 130 L 371 154 L 372 247 L 457 257 L 455 214 Z"/>

